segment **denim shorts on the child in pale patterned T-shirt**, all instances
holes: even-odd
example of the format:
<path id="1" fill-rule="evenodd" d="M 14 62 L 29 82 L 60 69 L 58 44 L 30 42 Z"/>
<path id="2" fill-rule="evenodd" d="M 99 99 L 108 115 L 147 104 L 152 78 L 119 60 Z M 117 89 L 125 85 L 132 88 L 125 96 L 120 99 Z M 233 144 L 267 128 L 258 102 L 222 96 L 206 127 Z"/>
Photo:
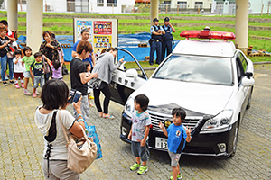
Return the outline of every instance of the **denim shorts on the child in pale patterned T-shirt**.
<path id="1" fill-rule="evenodd" d="M 140 142 L 132 141 L 132 153 L 135 157 L 140 157 L 142 161 L 147 161 L 150 157 L 150 151 L 148 142 L 145 142 L 145 146 L 141 147 Z"/>

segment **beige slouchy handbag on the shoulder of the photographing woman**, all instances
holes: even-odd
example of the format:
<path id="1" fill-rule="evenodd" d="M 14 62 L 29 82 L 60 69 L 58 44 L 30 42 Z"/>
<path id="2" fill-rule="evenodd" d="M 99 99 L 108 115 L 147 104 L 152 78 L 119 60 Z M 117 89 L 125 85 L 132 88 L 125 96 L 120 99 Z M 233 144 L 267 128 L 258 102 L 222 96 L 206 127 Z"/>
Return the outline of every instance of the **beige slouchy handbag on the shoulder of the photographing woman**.
<path id="1" fill-rule="evenodd" d="M 61 116 L 59 113 L 59 119 Z M 85 130 L 81 127 L 84 137 L 79 139 L 74 135 L 67 137 L 65 128 L 61 121 L 61 126 L 64 132 L 65 139 L 67 140 L 68 148 L 68 164 L 67 167 L 76 172 L 83 173 L 95 160 L 97 154 L 97 146 L 93 140 L 88 139 Z"/>

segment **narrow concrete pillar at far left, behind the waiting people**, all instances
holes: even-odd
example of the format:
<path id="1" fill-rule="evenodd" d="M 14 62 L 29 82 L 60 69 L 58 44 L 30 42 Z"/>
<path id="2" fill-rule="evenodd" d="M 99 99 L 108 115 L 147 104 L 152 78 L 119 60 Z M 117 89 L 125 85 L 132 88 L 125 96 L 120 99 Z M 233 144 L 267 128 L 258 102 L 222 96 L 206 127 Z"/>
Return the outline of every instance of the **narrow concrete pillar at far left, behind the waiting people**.
<path id="1" fill-rule="evenodd" d="M 8 28 L 14 32 L 18 31 L 18 1 L 7 1 L 7 22 Z"/>

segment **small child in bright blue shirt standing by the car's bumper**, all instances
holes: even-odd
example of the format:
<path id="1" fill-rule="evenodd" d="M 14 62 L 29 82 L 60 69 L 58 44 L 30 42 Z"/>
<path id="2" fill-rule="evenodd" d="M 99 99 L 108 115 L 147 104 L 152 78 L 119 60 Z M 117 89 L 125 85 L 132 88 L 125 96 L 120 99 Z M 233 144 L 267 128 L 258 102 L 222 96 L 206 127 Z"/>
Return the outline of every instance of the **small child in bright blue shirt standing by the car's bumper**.
<path id="1" fill-rule="evenodd" d="M 171 180 L 182 179 L 180 174 L 179 160 L 182 154 L 182 150 L 185 147 L 185 141 L 191 141 L 191 129 L 185 128 L 182 125 L 186 117 L 186 112 L 182 108 L 174 108 L 173 123 L 165 130 L 162 122 L 159 122 L 159 128 L 163 130 L 164 135 L 168 137 L 167 147 L 168 154 L 171 157 L 171 166 L 173 168 L 173 176 Z"/>

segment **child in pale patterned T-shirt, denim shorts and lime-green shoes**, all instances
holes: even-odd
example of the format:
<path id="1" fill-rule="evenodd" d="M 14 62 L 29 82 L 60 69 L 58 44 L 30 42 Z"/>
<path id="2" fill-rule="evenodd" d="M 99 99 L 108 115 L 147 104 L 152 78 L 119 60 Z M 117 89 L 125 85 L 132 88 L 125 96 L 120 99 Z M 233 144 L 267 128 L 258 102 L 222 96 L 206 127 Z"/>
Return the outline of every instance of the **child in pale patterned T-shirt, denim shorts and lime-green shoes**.
<path id="1" fill-rule="evenodd" d="M 143 175 L 147 172 L 147 158 L 149 157 L 148 135 L 150 125 L 152 124 L 150 115 L 146 112 L 149 98 L 144 94 L 135 97 L 135 112 L 132 114 L 132 127 L 128 135 L 128 139 L 132 140 L 132 152 L 135 156 L 135 164 L 130 167 L 131 171 L 137 171 L 137 175 Z M 140 160 L 142 165 L 140 165 Z"/>

